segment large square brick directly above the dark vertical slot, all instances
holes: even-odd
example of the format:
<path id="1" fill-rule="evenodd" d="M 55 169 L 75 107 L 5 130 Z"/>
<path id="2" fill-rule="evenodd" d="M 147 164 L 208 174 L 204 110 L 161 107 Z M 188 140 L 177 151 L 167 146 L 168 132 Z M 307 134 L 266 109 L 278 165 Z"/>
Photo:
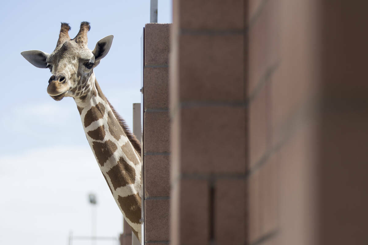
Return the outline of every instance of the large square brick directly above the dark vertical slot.
<path id="1" fill-rule="evenodd" d="M 245 173 L 244 108 L 183 108 L 180 118 L 181 172 Z"/>

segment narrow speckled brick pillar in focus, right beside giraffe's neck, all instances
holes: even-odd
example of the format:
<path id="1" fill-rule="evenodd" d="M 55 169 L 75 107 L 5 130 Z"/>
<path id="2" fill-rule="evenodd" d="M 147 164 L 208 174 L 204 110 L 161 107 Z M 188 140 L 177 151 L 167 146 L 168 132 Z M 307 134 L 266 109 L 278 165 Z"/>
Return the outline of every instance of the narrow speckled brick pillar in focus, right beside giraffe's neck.
<path id="1" fill-rule="evenodd" d="M 169 30 L 170 24 L 144 29 L 144 244 L 169 243 Z"/>

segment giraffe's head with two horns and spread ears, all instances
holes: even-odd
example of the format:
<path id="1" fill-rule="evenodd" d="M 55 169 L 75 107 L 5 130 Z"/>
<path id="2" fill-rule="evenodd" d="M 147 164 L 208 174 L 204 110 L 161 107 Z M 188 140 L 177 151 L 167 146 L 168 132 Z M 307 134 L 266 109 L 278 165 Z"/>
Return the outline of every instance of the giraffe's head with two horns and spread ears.
<path id="1" fill-rule="evenodd" d="M 82 22 L 77 36 L 69 37 L 70 26 L 61 23 L 59 40 L 51 54 L 39 50 L 23 51 L 21 54 L 38 68 L 49 68 L 47 93 L 54 100 L 73 97 L 82 100 L 92 90 L 91 75 L 100 60 L 109 52 L 113 36 L 99 40 L 94 50 L 87 46 L 87 32 L 91 29 L 88 22 Z"/>

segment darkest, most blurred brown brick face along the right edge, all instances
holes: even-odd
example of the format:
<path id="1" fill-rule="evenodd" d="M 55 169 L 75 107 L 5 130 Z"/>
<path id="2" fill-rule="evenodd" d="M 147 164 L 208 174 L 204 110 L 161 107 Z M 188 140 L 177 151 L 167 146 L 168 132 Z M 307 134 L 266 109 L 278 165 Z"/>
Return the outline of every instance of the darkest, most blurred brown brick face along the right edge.
<path id="1" fill-rule="evenodd" d="M 368 2 L 322 1 L 320 244 L 367 244 Z"/>

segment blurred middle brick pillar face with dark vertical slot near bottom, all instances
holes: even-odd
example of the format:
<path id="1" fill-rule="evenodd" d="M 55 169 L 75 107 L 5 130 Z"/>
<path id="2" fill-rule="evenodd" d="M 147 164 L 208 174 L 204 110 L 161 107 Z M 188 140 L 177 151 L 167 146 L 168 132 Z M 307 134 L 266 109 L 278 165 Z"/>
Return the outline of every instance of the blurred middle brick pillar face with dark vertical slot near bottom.
<path id="1" fill-rule="evenodd" d="M 171 244 L 246 241 L 243 1 L 173 1 Z"/>

